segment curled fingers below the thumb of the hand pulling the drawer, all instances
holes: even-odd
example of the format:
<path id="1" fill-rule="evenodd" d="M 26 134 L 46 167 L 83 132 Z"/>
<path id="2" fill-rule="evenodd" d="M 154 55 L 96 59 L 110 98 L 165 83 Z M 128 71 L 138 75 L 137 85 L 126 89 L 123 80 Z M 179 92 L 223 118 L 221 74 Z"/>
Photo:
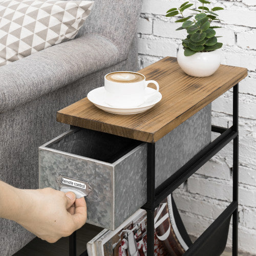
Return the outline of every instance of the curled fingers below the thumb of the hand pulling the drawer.
<path id="1" fill-rule="evenodd" d="M 80 228 L 87 220 L 87 206 L 84 198 L 78 198 L 75 201 L 75 214 L 72 215 L 76 229 Z"/>

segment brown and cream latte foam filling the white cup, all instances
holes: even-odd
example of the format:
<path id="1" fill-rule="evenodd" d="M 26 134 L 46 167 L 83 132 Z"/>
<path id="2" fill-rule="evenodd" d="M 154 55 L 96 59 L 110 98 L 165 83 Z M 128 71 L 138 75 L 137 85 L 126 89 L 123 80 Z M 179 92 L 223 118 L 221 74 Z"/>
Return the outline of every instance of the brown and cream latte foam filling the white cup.
<path id="1" fill-rule="evenodd" d="M 144 80 L 144 76 L 137 73 L 132 72 L 115 72 L 106 75 L 106 79 L 112 82 L 139 82 Z"/>

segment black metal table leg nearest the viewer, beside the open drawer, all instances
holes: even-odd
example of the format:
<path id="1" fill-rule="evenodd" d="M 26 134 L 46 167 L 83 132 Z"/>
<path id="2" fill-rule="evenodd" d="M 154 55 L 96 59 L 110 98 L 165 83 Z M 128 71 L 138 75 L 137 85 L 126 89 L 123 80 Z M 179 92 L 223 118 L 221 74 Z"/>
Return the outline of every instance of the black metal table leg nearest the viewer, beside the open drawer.
<path id="1" fill-rule="evenodd" d="M 154 255 L 155 143 L 147 143 L 147 255 Z"/>

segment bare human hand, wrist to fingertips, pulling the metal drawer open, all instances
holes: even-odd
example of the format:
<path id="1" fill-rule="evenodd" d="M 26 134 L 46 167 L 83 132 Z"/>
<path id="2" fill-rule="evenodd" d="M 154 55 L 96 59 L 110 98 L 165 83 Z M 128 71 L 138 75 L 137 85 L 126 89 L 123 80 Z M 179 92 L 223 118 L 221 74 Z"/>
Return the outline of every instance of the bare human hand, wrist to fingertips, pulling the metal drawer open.
<path id="1" fill-rule="evenodd" d="M 84 198 L 52 188 L 18 189 L 20 212 L 13 218 L 42 240 L 54 243 L 68 237 L 87 220 Z"/>

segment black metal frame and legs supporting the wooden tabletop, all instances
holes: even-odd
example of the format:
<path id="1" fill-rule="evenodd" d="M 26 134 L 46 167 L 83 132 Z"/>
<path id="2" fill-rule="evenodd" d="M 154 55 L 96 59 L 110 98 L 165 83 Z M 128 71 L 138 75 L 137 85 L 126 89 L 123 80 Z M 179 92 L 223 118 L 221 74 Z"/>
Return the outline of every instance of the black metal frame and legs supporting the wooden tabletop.
<path id="1" fill-rule="evenodd" d="M 172 193 L 178 186 L 193 175 L 210 158 L 216 155 L 227 143 L 233 140 L 233 201 L 222 214 L 201 234 L 185 255 L 197 255 L 210 234 L 231 215 L 232 221 L 232 256 L 238 255 L 238 84 L 233 87 L 233 125 L 227 129 L 212 125 L 211 131 L 221 135 L 204 147 L 174 175 L 157 188 L 155 187 L 155 143 L 147 143 L 147 203 L 142 207 L 147 211 L 147 255 L 154 255 L 154 212 L 155 207 Z M 76 255 L 75 234 L 70 237 L 70 256 Z M 86 253 L 86 252 L 84 252 Z M 86 254 L 81 255 L 86 255 Z"/>

